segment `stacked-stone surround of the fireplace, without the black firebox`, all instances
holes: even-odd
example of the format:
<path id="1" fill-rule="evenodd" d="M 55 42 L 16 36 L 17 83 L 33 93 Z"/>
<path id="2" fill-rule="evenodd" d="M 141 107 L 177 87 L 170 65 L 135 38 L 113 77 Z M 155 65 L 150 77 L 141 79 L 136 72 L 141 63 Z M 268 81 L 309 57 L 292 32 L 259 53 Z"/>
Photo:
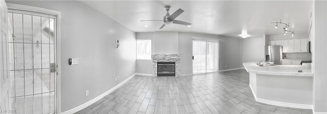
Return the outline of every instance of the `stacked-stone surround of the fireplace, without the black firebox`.
<path id="1" fill-rule="evenodd" d="M 157 76 L 158 62 L 175 62 L 175 76 L 180 76 L 180 58 L 181 54 L 152 54 L 152 75 Z"/>

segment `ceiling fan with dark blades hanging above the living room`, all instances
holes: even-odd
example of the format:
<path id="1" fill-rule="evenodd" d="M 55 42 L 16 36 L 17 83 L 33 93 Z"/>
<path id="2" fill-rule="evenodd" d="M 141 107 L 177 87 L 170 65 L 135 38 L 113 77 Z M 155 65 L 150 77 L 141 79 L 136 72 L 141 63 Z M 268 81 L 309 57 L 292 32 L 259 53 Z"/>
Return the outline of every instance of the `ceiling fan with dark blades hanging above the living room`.
<path id="1" fill-rule="evenodd" d="M 184 10 L 178 9 L 176 12 L 174 12 L 172 15 L 170 15 L 169 10 L 171 9 L 171 7 L 169 5 L 167 5 L 167 6 L 165 6 L 165 9 L 166 9 L 167 13 L 164 16 L 164 24 L 161 25 L 160 29 L 165 27 L 166 24 L 171 24 L 171 23 L 187 25 L 189 27 L 191 26 L 192 23 L 184 22 L 184 21 L 180 21 L 180 20 L 175 20 L 175 18 L 178 17 L 181 13 L 183 13 Z M 141 22 L 142 21 L 162 21 L 162 20 L 141 20 Z"/>

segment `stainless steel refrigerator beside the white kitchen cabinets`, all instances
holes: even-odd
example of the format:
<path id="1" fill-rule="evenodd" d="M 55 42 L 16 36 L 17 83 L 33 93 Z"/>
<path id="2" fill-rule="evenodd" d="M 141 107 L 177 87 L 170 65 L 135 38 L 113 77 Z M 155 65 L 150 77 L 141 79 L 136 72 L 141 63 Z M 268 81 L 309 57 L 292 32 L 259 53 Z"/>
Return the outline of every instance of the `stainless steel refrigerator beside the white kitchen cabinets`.
<path id="1" fill-rule="evenodd" d="M 275 65 L 282 65 L 283 49 L 280 45 L 265 46 L 265 58 L 267 62 L 274 62 Z"/>

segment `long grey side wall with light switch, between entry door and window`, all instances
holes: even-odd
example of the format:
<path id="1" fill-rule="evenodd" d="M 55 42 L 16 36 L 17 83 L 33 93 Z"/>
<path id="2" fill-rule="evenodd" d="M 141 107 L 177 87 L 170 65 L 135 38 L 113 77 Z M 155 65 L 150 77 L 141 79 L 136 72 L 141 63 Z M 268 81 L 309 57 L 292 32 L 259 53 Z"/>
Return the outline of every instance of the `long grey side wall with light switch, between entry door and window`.
<path id="1" fill-rule="evenodd" d="M 135 33 L 77 1 L 6 1 L 61 12 L 61 111 L 90 101 L 135 72 Z M 114 47 L 114 39 L 121 46 Z M 78 65 L 68 65 L 79 58 Z M 115 82 L 114 78 L 120 77 Z M 85 91 L 89 90 L 89 96 Z"/>

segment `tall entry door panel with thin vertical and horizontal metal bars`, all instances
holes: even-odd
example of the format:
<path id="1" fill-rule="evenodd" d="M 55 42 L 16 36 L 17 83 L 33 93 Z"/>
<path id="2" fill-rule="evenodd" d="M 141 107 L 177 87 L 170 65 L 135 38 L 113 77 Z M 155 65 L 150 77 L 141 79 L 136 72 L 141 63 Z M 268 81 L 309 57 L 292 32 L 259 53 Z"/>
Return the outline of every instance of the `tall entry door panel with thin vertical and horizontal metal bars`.
<path id="1" fill-rule="evenodd" d="M 8 12 L 11 98 L 17 113 L 56 113 L 56 17 Z"/>

